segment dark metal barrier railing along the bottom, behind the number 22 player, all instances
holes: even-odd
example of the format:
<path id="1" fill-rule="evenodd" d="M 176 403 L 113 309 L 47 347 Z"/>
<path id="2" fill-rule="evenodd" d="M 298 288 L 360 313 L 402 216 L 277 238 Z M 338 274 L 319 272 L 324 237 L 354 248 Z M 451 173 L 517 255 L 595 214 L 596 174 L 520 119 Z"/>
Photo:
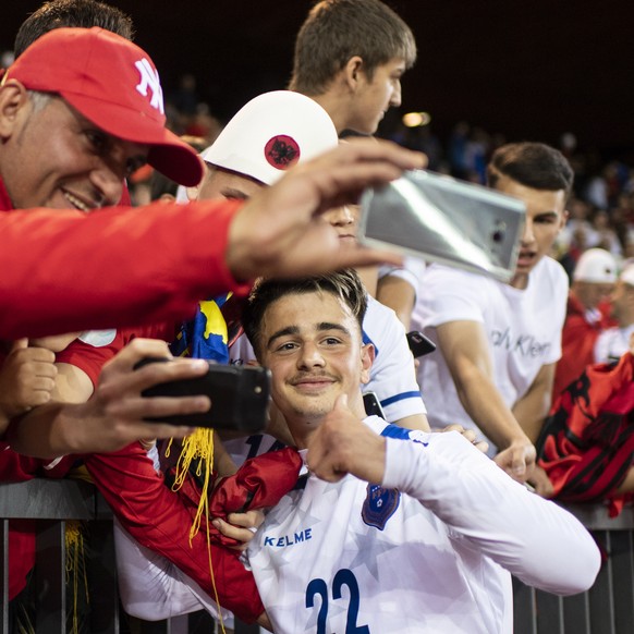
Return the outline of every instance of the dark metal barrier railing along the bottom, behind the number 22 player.
<path id="1" fill-rule="evenodd" d="M 605 553 L 594 586 L 573 597 L 557 597 L 513 580 L 514 634 L 632 634 L 634 633 L 634 509 L 615 519 L 600 505 L 569 505 L 592 532 Z M 122 611 L 117 592 L 112 515 L 93 485 L 82 480 L 33 479 L 0 485 L 0 565 L 2 570 L 0 631 L 9 632 L 9 520 L 37 520 L 36 631 L 66 631 L 65 525 L 89 522 L 90 632 L 119 634 Z M 209 618 L 199 613 L 188 623 Z M 178 623 L 178 625 L 176 625 Z M 184 632 L 183 619 L 137 623 L 143 634 Z M 236 622 L 235 634 L 256 634 L 257 626 Z"/>

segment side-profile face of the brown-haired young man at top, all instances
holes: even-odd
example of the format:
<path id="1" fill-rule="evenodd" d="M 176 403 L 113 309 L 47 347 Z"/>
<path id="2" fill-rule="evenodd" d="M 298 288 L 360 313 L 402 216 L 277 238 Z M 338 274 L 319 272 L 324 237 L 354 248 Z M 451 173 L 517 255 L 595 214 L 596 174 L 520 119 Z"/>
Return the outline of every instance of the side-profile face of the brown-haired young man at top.
<path id="1" fill-rule="evenodd" d="M 371 78 L 358 71 L 356 93 L 348 127 L 362 134 L 374 134 L 386 112 L 401 105 L 401 77 L 406 64 L 394 58 L 375 69 Z"/>

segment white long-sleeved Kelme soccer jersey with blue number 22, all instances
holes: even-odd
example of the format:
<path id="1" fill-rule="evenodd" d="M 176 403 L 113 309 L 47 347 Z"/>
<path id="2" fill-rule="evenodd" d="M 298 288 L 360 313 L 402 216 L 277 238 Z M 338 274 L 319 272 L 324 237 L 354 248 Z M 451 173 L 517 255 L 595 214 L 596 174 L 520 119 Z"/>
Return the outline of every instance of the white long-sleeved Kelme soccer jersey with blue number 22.
<path id="1" fill-rule="evenodd" d="M 276 633 L 509 633 L 511 577 L 500 563 L 549 592 L 592 585 L 599 553 L 572 515 L 456 432 L 389 432 L 415 441 L 388 439 L 386 488 L 309 475 L 251 542 Z M 418 499 L 387 488 L 397 486 Z"/>

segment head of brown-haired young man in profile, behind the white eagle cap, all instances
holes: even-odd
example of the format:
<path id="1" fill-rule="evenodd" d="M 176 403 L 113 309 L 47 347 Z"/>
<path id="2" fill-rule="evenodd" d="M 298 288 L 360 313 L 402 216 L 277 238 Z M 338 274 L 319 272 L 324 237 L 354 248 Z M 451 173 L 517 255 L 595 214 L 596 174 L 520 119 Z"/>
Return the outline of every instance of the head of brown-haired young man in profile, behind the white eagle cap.
<path id="1" fill-rule="evenodd" d="M 320 103 L 339 134 L 374 134 L 415 60 L 412 31 L 380 0 L 324 0 L 297 34 L 289 88 Z"/>

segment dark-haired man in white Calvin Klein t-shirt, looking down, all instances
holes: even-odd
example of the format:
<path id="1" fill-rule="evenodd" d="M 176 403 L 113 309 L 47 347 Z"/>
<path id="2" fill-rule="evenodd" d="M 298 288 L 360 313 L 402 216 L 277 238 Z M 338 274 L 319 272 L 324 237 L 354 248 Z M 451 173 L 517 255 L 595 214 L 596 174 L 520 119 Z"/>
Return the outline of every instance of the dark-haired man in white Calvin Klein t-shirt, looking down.
<path id="1" fill-rule="evenodd" d="M 568 278 L 549 253 L 565 222 L 573 172 L 558 150 L 517 143 L 496 150 L 488 178 L 526 204 L 515 273 L 502 283 L 439 265 L 427 269 L 415 321 L 439 351 L 422 359 L 418 380 L 432 426 L 481 430 L 499 451 L 496 462 L 523 481 L 561 355 Z"/>

